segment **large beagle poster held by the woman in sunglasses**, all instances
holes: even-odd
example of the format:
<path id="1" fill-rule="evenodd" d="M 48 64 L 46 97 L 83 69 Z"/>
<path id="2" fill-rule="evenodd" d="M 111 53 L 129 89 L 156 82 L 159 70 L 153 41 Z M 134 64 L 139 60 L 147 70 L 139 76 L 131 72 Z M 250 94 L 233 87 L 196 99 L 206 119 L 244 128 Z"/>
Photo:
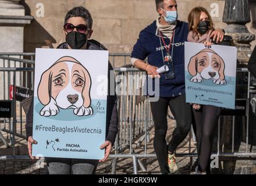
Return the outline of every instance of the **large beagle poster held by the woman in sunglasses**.
<path id="1" fill-rule="evenodd" d="M 35 52 L 33 156 L 102 159 L 108 51 Z"/>

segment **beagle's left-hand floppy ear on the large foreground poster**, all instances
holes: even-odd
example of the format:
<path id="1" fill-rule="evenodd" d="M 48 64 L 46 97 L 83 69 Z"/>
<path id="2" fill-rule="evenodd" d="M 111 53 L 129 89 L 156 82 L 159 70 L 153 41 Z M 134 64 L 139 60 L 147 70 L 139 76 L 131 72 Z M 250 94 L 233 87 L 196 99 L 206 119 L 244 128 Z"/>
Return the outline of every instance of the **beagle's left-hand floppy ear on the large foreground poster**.
<path id="1" fill-rule="evenodd" d="M 37 95 L 42 105 L 48 105 L 51 100 L 51 68 L 45 71 L 42 76 L 37 89 Z"/>

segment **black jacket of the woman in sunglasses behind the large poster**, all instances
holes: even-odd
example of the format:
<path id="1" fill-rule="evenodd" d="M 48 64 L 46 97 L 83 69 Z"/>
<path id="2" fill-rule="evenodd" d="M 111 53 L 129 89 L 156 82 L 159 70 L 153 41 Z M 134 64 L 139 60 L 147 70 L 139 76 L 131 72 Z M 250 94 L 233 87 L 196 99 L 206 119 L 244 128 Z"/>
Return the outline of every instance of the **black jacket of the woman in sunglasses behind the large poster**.
<path id="1" fill-rule="evenodd" d="M 57 47 L 59 49 L 67 49 L 66 42 Z M 95 40 L 88 40 L 87 49 L 90 50 L 106 50 L 106 48 Z M 118 133 L 118 110 L 116 95 L 110 95 L 110 72 L 113 70 L 111 63 L 108 64 L 108 96 L 106 101 L 106 141 L 110 141 L 112 145 L 115 142 Z M 114 83 L 115 84 L 115 83 Z M 26 133 L 27 138 L 33 136 L 33 101 L 27 113 Z M 36 139 L 35 139 L 36 140 Z"/>

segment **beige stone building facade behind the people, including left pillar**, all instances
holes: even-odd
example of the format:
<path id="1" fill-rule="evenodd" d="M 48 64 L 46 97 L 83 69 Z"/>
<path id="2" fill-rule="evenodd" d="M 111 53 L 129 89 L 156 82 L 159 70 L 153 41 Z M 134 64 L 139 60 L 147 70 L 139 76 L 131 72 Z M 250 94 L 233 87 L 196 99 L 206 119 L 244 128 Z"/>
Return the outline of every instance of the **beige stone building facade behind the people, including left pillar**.
<path id="1" fill-rule="evenodd" d="M 256 1 L 249 2 L 251 23 L 247 27 L 255 34 Z M 204 6 L 211 12 L 216 27 L 226 27 L 222 22 L 223 0 L 177 0 L 177 4 L 180 20 L 186 21 L 195 6 Z M 0 17 L 23 16 L 8 27 L 2 25 L 6 17 L 2 21 L 0 18 L 0 33 L 4 36 L 1 38 L 1 52 L 34 52 L 36 47 L 46 45 L 44 40 L 50 40 L 56 47 L 65 41 L 62 31 L 64 17 L 74 6 L 85 6 L 90 10 L 94 20 L 93 38 L 112 53 L 131 52 L 140 30 L 158 17 L 154 0 L 0 0 Z M 12 43 L 16 43 L 16 47 Z M 252 42 L 252 48 L 255 44 L 256 41 Z"/>

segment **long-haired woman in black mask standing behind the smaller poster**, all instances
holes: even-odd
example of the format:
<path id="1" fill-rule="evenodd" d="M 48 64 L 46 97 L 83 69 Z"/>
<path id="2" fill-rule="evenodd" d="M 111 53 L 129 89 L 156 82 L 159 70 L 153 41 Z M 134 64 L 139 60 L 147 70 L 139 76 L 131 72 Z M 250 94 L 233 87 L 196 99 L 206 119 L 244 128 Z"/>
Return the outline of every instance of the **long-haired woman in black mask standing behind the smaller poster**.
<path id="1" fill-rule="evenodd" d="M 205 44 L 211 47 L 215 38 L 211 38 L 214 24 L 211 16 L 205 8 L 196 7 L 189 14 L 189 35 L 187 41 Z M 221 36 L 222 37 L 222 36 Z M 198 62 L 199 66 L 205 66 L 205 62 Z M 211 75 L 211 74 L 210 74 Z M 218 123 L 221 108 L 211 105 L 193 104 L 193 113 L 196 125 L 198 166 L 196 174 L 206 174 L 209 170 L 212 151 L 214 128 Z"/>

